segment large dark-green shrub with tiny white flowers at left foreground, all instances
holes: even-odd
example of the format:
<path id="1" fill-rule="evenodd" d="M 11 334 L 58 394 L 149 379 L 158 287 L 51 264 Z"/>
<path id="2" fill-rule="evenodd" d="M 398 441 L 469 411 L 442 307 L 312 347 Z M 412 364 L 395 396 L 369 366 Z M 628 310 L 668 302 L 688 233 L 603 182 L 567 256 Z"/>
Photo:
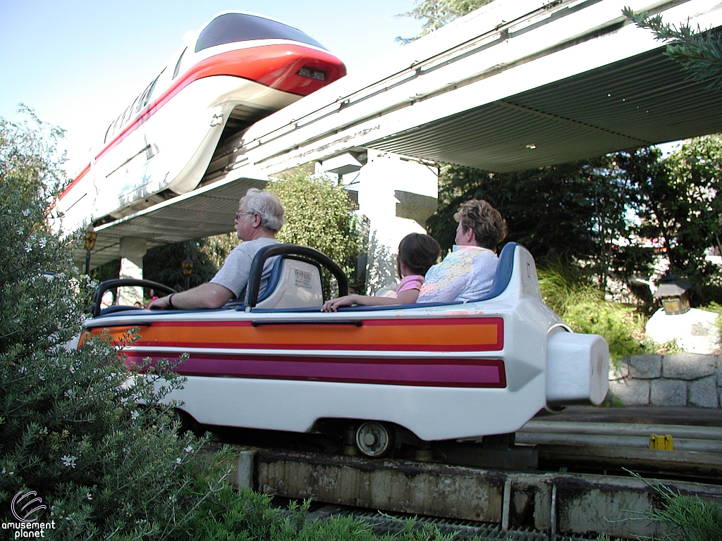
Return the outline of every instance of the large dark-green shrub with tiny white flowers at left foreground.
<path id="1" fill-rule="evenodd" d="M 58 184 L 48 179 L 61 174 L 35 121 L 0 118 L 0 523 L 17 522 L 12 499 L 35 491 L 47 509 L 33 518 L 54 526 L 46 538 L 181 539 L 200 506 L 230 490 L 227 454 L 201 461 L 202 441 L 176 433 L 160 403 L 182 383 L 168 366 L 145 379 L 108 340 L 66 347 L 87 284 L 71 241 L 47 225 Z"/>

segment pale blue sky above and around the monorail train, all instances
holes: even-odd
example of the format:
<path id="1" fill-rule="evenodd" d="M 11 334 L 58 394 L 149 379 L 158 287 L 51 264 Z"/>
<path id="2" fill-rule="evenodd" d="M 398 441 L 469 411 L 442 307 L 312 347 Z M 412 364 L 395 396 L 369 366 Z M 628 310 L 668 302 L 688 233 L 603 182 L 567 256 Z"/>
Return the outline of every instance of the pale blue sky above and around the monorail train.
<path id="1" fill-rule="evenodd" d="M 396 17 L 414 0 L 0 0 L 0 116 L 19 102 L 66 129 L 69 175 L 168 58 L 183 34 L 240 9 L 300 28 L 349 72 L 399 47 L 421 22 Z"/>

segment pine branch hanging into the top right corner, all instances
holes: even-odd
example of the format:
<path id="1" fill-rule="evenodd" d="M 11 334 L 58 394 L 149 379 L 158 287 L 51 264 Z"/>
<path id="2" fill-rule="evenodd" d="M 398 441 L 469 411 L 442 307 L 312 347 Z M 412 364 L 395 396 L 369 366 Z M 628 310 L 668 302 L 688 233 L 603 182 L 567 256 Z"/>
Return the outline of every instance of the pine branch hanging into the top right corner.
<path id="1" fill-rule="evenodd" d="M 671 25 L 663 22 L 661 15 L 635 14 L 629 7 L 622 9 L 622 14 L 638 27 L 654 32 L 656 40 L 671 41 L 666 56 L 682 63 L 691 79 L 707 82 L 709 89 L 722 88 L 722 39 L 718 31 L 703 31 L 699 26 L 694 30 L 689 24 Z"/>

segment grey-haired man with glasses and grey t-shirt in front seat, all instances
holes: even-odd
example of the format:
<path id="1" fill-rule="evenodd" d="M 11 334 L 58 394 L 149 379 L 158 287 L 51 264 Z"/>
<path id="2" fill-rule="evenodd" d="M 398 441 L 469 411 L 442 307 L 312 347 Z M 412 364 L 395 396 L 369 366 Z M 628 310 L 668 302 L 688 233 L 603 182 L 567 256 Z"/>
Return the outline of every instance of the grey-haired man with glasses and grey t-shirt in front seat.
<path id="1" fill-rule="evenodd" d="M 276 234 L 284 224 L 283 206 L 277 195 L 251 188 L 240 200 L 235 215 L 235 231 L 243 242 L 228 255 L 222 268 L 208 283 L 156 299 L 149 308 L 199 309 L 220 308 L 232 299 L 245 298 L 245 286 L 253 257 L 262 247 L 278 244 Z M 263 293 L 276 258 L 266 260 L 261 275 Z"/>

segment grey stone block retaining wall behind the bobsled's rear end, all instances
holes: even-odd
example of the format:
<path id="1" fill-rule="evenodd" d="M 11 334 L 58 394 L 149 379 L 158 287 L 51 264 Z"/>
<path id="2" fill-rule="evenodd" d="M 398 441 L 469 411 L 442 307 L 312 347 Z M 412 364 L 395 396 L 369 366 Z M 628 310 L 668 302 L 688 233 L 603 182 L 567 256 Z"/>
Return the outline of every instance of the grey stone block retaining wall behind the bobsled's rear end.
<path id="1" fill-rule="evenodd" d="M 609 392 L 623 405 L 720 408 L 722 355 L 633 355 L 610 363 Z"/>

